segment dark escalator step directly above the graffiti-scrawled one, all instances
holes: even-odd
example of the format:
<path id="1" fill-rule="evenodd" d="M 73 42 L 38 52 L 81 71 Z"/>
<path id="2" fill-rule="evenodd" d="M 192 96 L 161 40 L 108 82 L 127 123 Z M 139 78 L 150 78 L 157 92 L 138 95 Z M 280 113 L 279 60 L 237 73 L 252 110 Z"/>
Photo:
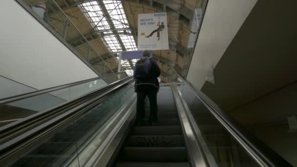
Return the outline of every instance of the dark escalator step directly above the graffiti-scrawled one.
<path id="1" fill-rule="evenodd" d="M 182 135 L 181 126 L 135 126 L 132 135 Z"/>

